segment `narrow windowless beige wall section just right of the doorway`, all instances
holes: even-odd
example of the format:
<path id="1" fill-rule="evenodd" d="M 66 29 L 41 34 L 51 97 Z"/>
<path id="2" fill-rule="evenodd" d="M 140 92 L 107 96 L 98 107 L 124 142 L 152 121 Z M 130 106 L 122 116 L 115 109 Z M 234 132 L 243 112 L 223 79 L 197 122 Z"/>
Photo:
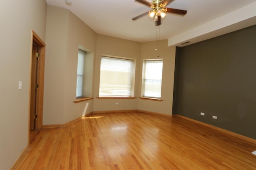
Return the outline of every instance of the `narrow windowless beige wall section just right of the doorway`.
<path id="1" fill-rule="evenodd" d="M 64 122 L 69 11 L 47 6 L 43 125 Z"/>

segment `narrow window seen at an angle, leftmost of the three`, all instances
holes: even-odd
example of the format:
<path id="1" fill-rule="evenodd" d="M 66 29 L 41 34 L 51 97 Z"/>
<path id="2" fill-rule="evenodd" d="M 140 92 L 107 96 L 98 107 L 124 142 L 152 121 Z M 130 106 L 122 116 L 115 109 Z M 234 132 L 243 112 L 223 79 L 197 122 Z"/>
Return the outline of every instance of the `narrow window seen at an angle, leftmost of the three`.
<path id="1" fill-rule="evenodd" d="M 84 60 L 86 52 L 78 50 L 77 61 L 77 78 L 76 78 L 76 98 L 83 97 L 83 84 L 84 84 Z"/>

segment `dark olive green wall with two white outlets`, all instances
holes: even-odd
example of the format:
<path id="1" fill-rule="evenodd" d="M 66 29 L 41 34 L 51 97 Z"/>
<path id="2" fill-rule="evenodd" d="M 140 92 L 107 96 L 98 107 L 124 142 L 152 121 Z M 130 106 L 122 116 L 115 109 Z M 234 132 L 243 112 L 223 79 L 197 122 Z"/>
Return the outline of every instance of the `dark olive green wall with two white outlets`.
<path id="1" fill-rule="evenodd" d="M 180 52 L 177 113 L 256 139 L 256 25 Z"/>

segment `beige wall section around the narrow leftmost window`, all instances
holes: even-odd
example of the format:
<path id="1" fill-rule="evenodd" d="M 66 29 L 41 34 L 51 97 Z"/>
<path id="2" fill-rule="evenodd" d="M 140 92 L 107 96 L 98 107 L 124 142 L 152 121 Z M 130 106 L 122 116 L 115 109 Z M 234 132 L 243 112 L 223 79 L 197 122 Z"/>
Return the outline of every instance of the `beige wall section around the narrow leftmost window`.
<path id="1" fill-rule="evenodd" d="M 93 111 L 93 100 L 76 104 L 73 102 L 76 99 L 76 74 L 79 45 L 84 47 L 85 51 L 94 53 L 94 51 L 96 51 L 96 33 L 83 21 L 77 18 L 72 12 L 69 12 L 68 44 L 65 69 L 66 87 L 64 123 Z M 92 80 L 90 80 L 90 83 L 93 83 Z M 94 89 L 92 88 L 92 90 Z"/>

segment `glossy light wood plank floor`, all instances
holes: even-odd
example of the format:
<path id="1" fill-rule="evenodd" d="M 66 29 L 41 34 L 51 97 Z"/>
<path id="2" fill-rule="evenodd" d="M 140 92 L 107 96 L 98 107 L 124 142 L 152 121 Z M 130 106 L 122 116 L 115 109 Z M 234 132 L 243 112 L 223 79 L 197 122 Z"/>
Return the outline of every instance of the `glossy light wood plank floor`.
<path id="1" fill-rule="evenodd" d="M 256 144 L 180 117 L 101 113 L 30 137 L 18 170 L 256 169 Z"/>

